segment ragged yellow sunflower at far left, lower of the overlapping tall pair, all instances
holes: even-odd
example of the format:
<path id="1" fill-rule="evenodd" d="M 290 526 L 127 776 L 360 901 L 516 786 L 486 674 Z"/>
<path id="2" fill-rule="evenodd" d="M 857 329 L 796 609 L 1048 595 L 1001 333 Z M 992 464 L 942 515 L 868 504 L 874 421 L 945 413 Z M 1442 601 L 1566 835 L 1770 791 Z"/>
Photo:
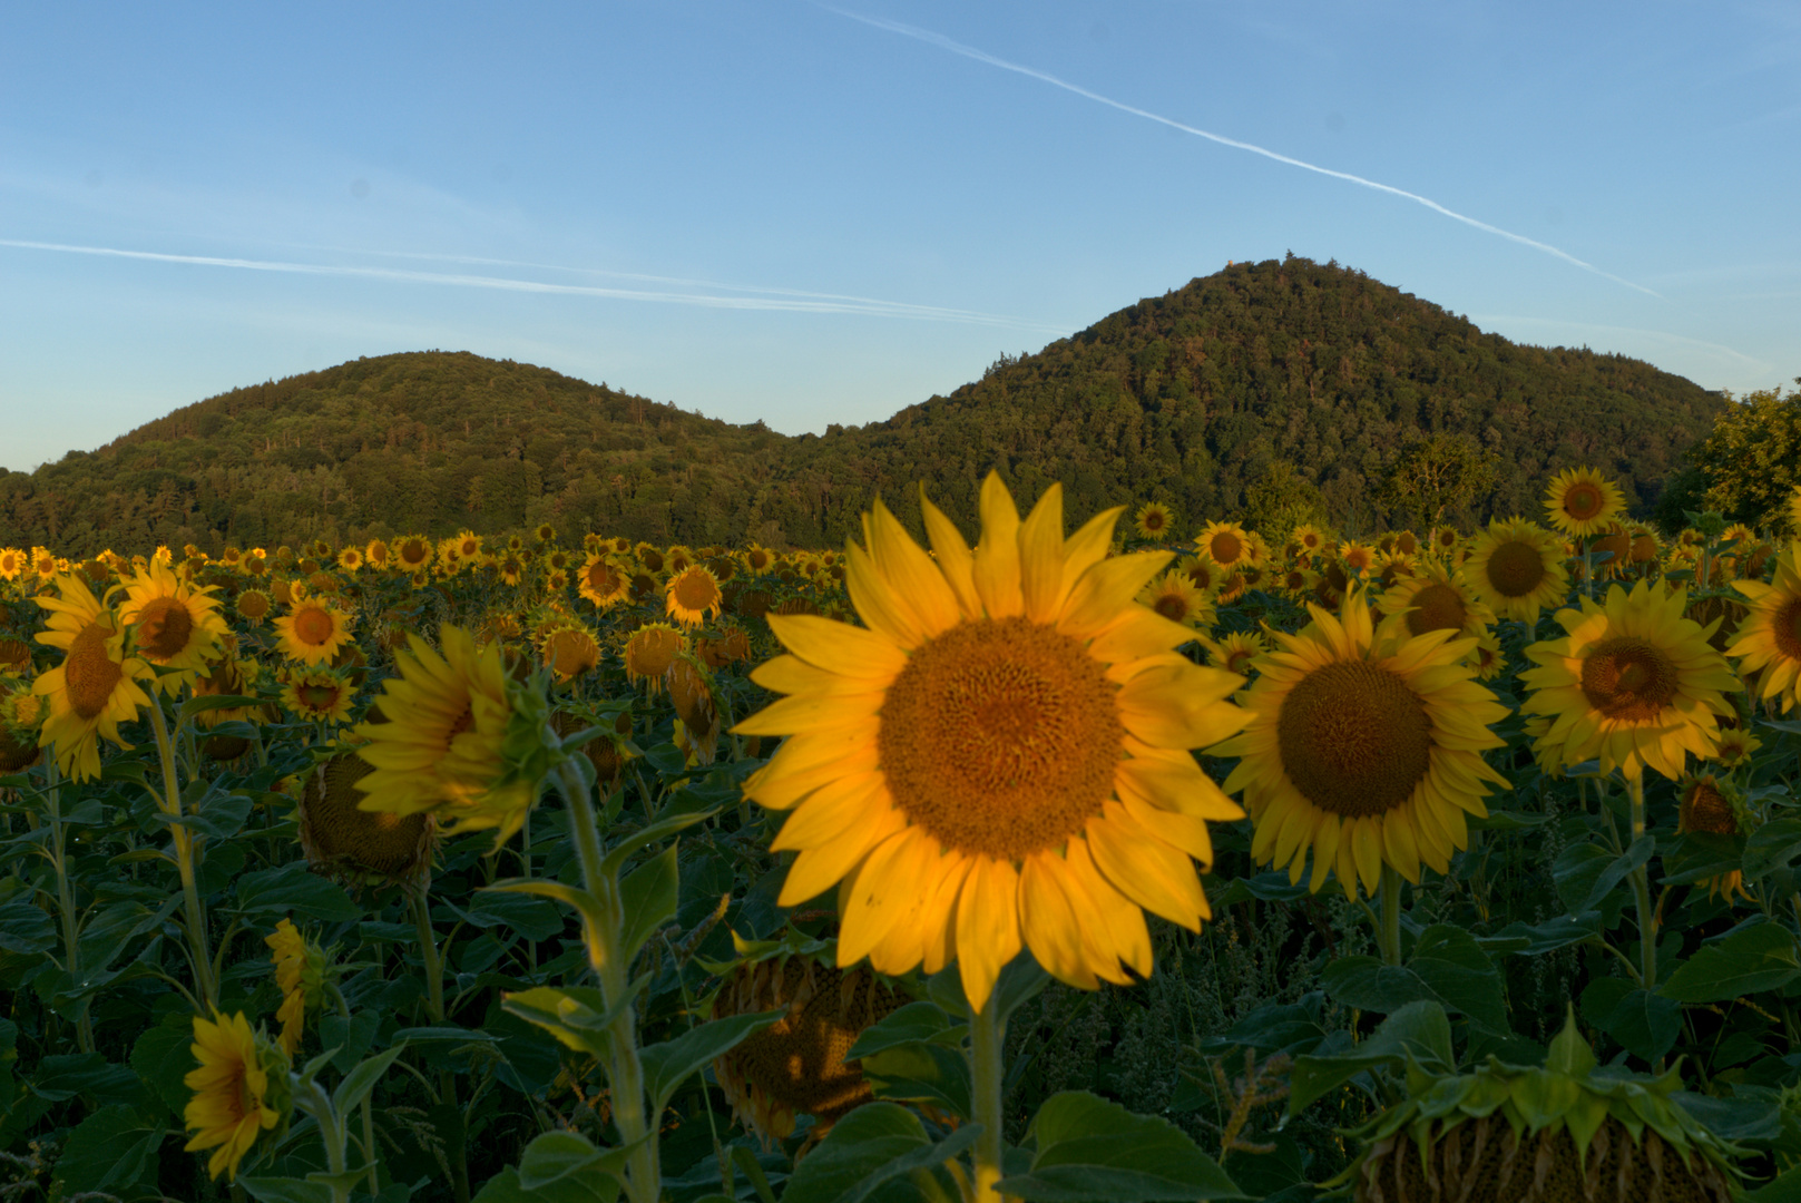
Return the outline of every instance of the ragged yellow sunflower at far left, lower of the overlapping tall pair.
<path id="1" fill-rule="evenodd" d="M 144 661 L 124 654 L 119 616 L 81 580 L 58 576 L 54 587 L 56 598 L 34 598 L 50 611 L 49 630 L 38 636 L 38 643 L 65 652 L 61 665 L 32 683 L 32 693 L 50 702 L 38 746 L 54 744 L 58 767 L 85 782 L 101 773 L 101 735 L 130 747 L 119 737 L 119 724 L 135 720 L 139 706 L 151 704 L 137 683 L 155 674 Z"/>

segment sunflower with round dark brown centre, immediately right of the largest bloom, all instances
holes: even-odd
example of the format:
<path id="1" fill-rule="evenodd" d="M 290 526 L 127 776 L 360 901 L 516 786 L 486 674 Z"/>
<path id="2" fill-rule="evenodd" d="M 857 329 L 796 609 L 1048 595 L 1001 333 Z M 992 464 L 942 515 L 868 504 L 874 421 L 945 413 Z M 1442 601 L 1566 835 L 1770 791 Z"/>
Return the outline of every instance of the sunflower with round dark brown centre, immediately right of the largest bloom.
<path id="1" fill-rule="evenodd" d="M 1383 864 L 1412 882 L 1421 864 L 1446 872 L 1468 845 L 1464 812 L 1488 814 L 1486 783 L 1507 785 L 1482 760 L 1504 746 L 1489 726 L 1507 710 L 1457 663 L 1475 641 L 1378 632 L 1362 591 L 1336 618 L 1308 609 L 1257 665 L 1250 726 L 1212 749 L 1239 756 L 1226 791 L 1244 792 L 1252 855 L 1299 882 L 1311 850 L 1309 890 L 1336 870 L 1349 899 L 1358 879 L 1374 895 Z"/>

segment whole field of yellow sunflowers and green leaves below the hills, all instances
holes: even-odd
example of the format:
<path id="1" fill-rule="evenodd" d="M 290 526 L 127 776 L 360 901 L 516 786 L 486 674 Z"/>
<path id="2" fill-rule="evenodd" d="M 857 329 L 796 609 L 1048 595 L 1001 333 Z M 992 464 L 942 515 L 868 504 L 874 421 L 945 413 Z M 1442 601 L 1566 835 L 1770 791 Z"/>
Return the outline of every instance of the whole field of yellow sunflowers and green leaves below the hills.
<path id="1" fill-rule="evenodd" d="M 0 1199 L 1801 1198 L 1801 544 L 919 517 L 0 549 Z"/>

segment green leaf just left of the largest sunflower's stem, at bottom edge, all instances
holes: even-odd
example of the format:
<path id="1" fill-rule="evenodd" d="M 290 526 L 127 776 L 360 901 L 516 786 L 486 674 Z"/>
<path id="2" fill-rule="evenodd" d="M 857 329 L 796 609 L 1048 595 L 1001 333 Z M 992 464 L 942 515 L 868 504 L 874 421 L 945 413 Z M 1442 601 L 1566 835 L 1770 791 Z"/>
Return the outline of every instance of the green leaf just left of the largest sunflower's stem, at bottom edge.
<path id="1" fill-rule="evenodd" d="M 965 1124 L 933 1144 L 919 1117 L 891 1102 L 868 1102 L 845 1118 L 801 1160 L 782 1203 L 915 1203 L 926 1194 L 910 1178 L 944 1165 L 976 1144 L 980 1124 Z"/>

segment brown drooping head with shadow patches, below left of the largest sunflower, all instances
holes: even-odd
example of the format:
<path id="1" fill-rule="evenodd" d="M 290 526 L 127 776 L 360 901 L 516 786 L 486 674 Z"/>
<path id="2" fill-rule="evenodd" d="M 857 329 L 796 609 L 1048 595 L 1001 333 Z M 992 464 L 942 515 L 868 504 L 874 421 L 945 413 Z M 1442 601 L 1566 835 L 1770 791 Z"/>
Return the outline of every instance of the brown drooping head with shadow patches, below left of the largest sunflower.
<path id="1" fill-rule="evenodd" d="M 785 1140 L 798 1115 L 814 1118 L 809 1140 L 823 1138 L 875 1097 L 845 1054 L 906 1001 L 868 965 L 832 965 L 828 949 L 742 962 L 713 998 L 713 1018 L 787 1014 L 713 1063 L 733 1115 L 765 1145 Z"/>

